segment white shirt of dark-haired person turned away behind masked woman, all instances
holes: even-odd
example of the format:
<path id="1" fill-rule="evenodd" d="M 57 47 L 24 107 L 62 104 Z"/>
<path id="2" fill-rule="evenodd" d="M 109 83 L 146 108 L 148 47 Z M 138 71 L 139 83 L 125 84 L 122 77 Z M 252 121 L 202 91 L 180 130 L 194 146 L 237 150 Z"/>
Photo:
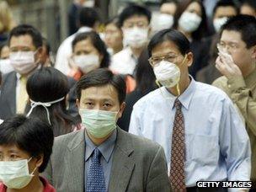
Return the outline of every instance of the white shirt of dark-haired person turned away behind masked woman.
<path id="1" fill-rule="evenodd" d="M 92 28 L 89 27 L 81 27 L 77 30 L 77 33 L 70 35 L 66 40 L 63 40 L 56 54 L 56 69 L 60 70 L 65 75 L 70 72 L 71 68 L 68 65 L 68 58 L 72 55 L 72 40 L 75 39 L 77 34 L 91 30 Z"/>

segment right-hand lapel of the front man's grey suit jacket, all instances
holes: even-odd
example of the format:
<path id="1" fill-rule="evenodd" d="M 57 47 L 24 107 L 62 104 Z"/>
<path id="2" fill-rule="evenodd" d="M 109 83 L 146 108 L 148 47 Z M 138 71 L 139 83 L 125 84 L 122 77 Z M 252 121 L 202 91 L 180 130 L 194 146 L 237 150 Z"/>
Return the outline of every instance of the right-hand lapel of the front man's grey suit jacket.
<path id="1" fill-rule="evenodd" d="M 131 179 L 135 162 L 130 157 L 133 152 L 130 137 L 125 132 L 117 129 L 117 140 L 113 153 L 113 163 L 109 179 L 109 191 L 125 191 Z"/>

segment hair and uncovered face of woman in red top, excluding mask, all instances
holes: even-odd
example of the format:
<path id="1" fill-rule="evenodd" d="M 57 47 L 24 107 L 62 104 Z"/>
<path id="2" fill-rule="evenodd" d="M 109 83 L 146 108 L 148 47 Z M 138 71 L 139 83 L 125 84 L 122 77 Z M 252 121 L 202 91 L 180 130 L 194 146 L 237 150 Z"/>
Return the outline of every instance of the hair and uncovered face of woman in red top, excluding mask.
<path id="1" fill-rule="evenodd" d="M 4 120 L 0 125 L 0 162 L 27 159 L 29 173 L 42 173 L 51 156 L 53 139 L 51 127 L 39 119 L 16 115 Z"/>

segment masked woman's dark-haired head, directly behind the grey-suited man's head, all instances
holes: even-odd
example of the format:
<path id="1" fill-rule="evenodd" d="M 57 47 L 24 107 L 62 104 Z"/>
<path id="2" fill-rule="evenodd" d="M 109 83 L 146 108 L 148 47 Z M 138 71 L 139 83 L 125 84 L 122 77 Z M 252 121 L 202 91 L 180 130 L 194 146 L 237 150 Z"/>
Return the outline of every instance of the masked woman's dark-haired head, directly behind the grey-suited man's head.
<path id="1" fill-rule="evenodd" d="M 78 34 L 72 41 L 72 61 L 83 73 L 109 67 L 109 53 L 104 41 L 94 32 Z"/>

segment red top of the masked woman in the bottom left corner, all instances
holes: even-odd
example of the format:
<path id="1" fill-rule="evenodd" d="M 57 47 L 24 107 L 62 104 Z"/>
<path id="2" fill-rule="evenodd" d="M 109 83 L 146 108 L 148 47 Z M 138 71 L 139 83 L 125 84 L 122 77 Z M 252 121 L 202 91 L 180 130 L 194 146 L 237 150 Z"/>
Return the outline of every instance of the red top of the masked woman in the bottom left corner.
<path id="1" fill-rule="evenodd" d="M 35 173 L 35 176 L 31 179 L 29 184 L 25 186 L 23 189 L 7 189 L 7 192 L 42 192 L 44 191 L 44 185 L 40 181 L 39 174 Z"/>

